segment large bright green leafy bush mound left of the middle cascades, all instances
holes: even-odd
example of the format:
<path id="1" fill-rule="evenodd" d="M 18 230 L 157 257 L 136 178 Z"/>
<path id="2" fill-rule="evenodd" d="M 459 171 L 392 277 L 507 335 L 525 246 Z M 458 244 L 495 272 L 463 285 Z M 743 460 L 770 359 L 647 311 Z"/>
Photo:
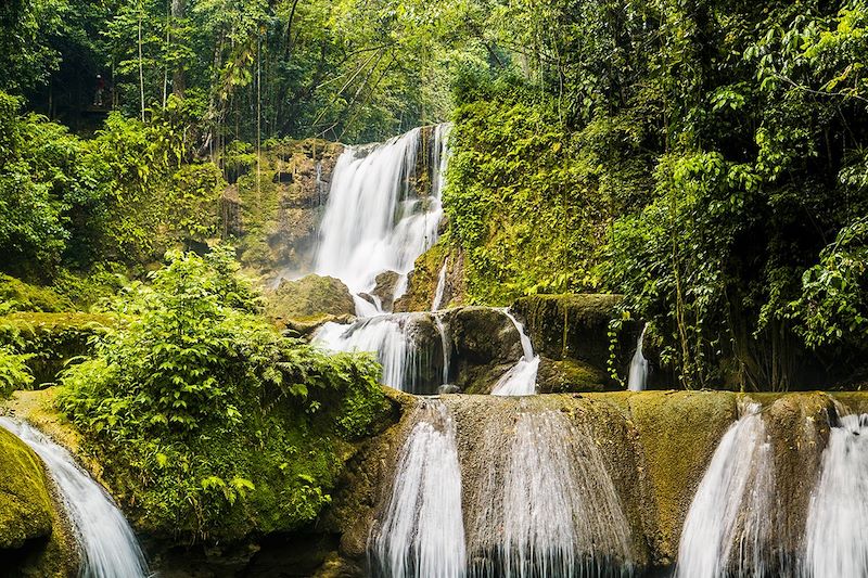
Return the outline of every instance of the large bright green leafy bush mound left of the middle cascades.
<path id="1" fill-rule="evenodd" d="M 232 539 L 308 523 L 384 410 L 370 358 L 282 337 L 237 269 L 228 247 L 169 255 L 63 376 L 61 408 L 145 527 Z"/>

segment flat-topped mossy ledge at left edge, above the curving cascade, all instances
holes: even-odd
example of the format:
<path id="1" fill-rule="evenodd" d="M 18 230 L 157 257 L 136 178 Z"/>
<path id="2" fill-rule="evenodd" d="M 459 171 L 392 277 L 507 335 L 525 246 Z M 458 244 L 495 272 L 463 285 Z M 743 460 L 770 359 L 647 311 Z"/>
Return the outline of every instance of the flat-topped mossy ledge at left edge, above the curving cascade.
<path id="1" fill-rule="evenodd" d="M 54 382 L 69 360 L 87 357 L 94 336 L 123 322 L 107 314 L 72 312 L 17 312 L 0 317 L 0 343 L 31 354 L 27 365 L 36 386 Z"/>

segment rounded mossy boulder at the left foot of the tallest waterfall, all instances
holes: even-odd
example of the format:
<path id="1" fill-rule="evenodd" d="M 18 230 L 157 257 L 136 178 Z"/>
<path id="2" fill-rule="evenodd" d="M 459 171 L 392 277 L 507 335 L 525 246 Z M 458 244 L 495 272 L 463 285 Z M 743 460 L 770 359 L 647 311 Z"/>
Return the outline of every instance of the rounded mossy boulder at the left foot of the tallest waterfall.
<path id="1" fill-rule="evenodd" d="M 279 325 L 289 325 L 290 320 L 315 321 L 356 312 L 349 290 L 333 277 L 310 274 L 297 281 L 284 279 L 267 298 L 268 312 Z"/>

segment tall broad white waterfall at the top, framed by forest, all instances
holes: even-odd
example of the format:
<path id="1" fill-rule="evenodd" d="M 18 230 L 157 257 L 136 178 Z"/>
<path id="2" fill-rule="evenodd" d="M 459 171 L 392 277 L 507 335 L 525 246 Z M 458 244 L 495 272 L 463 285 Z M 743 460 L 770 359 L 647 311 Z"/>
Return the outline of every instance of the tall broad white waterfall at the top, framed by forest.
<path id="1" fill-rule="evenodd" d="M 332 174 L 320 224 L 315 258 L 318 274 L 336 277 L 352 293 L 362 293 L 374 288 L 379 273 L 396 271 L 403 279 L 395 297 L 406 291 L 413 261 L 437 241 L 448 132 L 449 125 L 433 129 L 429 175 L 417 174 L 420 166 L 429 165 L 417 158 L 420 128 L 383 144 L 344 151 Z M 431 194 L 420 196 L 416 185 L 425 181 L 431 182 Z M 368 317 L 371 308 L 362 305 L 358 313 Z"/>

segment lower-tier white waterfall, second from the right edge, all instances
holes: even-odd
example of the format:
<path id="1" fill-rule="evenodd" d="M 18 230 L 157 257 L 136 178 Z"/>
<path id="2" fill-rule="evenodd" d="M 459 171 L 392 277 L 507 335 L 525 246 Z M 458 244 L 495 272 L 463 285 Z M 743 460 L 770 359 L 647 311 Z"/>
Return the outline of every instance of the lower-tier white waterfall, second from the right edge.
<path id="1" fill-rule="evenodd" d="M 676 578 L 771 576 L 775 464 L 758 403 L 726 432 L 681 530 Z"/>

